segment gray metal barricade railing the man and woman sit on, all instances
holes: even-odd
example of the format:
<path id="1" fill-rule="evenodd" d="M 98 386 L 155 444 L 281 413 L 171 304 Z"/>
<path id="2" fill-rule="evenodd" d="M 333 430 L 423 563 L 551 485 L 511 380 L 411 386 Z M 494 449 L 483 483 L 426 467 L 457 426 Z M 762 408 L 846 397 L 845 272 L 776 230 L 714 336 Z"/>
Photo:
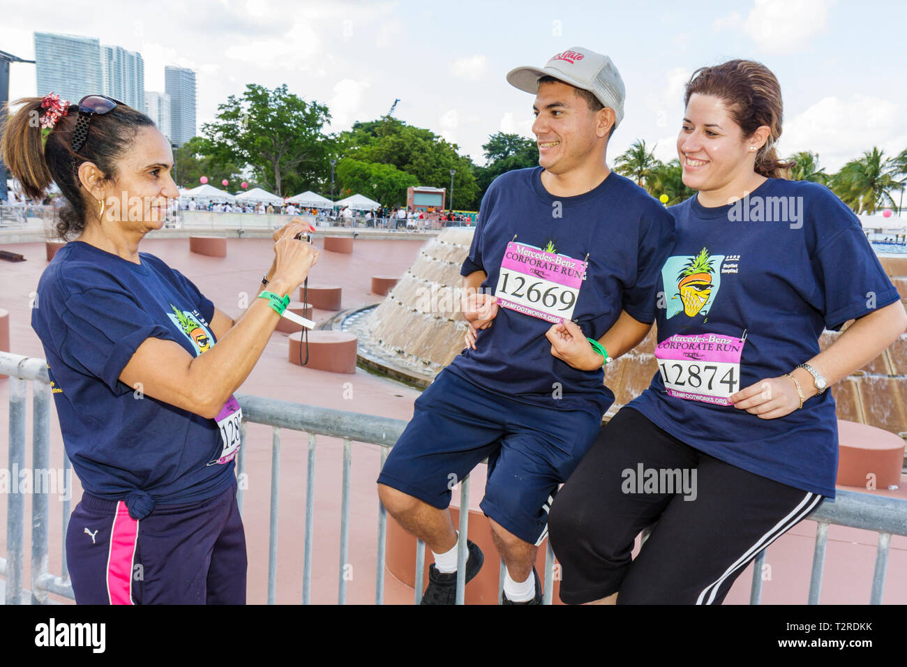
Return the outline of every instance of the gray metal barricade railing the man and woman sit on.
<path id="1" fill-rule="evenodd" d="M 51 387 L 44 359 L 26 358 L 6 352 L 0 352 L 0 374 L 9 378 L 9 469 L 25 468 L 25 414 L 27 384 L 33 385 L 33 468 L 46 469 L 50 465 L 49 415 L 51 404 Z M 362 415 L 327 407 L 311 407 L 288 401 L 255 396 L 238 396 L 243 411 L 242 445 L 237 459 L 237 474 L 242 475 L 246 467 L 247 423 L 272 427 L 271 440 L 271 488 L 270 488 L 270 521 L 268 531 L 268 604 L 276 602 L 277 593 L 277 551 L 278 551 L 278 493 L 280 485 L 280 449 L 281 429 L 307 433 L 307 475 L 306 475 L 306 518 L 305 540 L 302 573 L 303 604 L 310 602 L 311 568 L 313 554 L 313 535 L 315 523 L 315 485 L 317 436 L 338 437 L 343 439 L 343 467 L 341 473 L 341 507 L 340 507 L 340 573 L 337 584 L 337 602 L 346 603 L 346 579 L 344 565 L 348 563 L 349 527 L 351 506 L 351 467 L 353 461 L 353 443 L 364 443 L 382 447 L 381 466 L 384 466 L 387 453 L 397 438 L 403 433 L 406 422 L 388 417 Z M 63 455 L 63 470 L 68 471 L 69 460 Z M 70 584 L 65 554 L 65 536 L 70 514 L 70 501 L 63 501 L 63 568 L 61 575 L 48 572 L 48 523 L 49 493 L 44 488 L 42 493 L 30 494 L 32 497 L 32 561 L 31 561 L 31 602 L 43 604 L 48 602 L 48 594 L 54 593 L 74 599 Z M 239 485 L 237 501 L 242 511 L 244 487 Z M 24 563 L 24 494 L 7 495 L 6 513 L 6 550 L 5 558 L 0 557 L 0 574 L 6 579 L 5 601 L 7 604 L 19 603 L 23 586 Z M 469 516 L 469 477 L 461 482 L 460 488 L 460 522 L 459 541 L 457 543 L 457 590 L 456 603 L 463 604 L 464 574 L 467 558 L 466 533 Z M 892 535 L 907 536 L 907 501 L 878 495 L 855 493 L 853 491 L 837 492 L 834 500 L 825 500 L 807 518 L 817 522 L 818 528 L 814 544 L 813 568 L 810 576 L 808 603 L 819 603 L 822 587 L 825 548 L 828 540 L 828 526 L 843 525 L 862 528 L 879 534 L 875 569 L 873 573 L 870 603 L 882 603 L 885 573 Z M 385 593 L 385 541 L 387 517 L 384 507 L 378 504 L 378 537 L 377 562 L 375 576 L 375 603 L 384 602 Z M 645 539 L 645 533 L 643 539 Z M 554 554 L 549 540 L 546 540 L 546 557 L 544 577 L 544 594 L 542 603 L 551 604 L 554 581 Z M 767 551 L 767 550 L 766 550 Z M 750 603 L 761 602 L 763 566 L 766 564 L 766 551 L 759 554 L 753 570 L 753 583 Z M 416 541 L 414 603 L 419 603 L 424 588 L 424 543 Z M 504 569 L 501 566 L 498 602 L 501 601 Z"/>

